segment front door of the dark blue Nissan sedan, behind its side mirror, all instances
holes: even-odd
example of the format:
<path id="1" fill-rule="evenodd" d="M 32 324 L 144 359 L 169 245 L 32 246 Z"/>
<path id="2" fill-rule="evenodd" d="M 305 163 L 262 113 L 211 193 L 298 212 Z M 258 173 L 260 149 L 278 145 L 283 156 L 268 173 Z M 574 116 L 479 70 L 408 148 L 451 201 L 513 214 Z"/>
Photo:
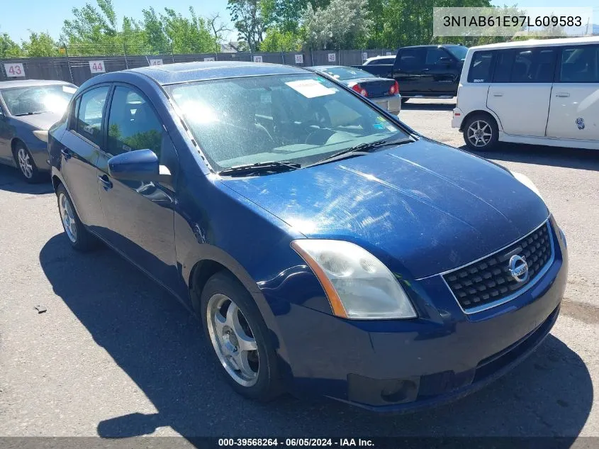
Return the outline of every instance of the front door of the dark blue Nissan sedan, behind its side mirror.
<path id="1" fill-rule="evenodd" d="M 108 140 L 96 173 L 107 222 L 101 236 L 152 277 L 172 286 L 177 282 L 174 187 L 115 179 L 108 174 L 108 159 L 150 149 L 175 174 L 177 153 L 150 101 L 135 87 L 115 87 L 107 126 Z"/>

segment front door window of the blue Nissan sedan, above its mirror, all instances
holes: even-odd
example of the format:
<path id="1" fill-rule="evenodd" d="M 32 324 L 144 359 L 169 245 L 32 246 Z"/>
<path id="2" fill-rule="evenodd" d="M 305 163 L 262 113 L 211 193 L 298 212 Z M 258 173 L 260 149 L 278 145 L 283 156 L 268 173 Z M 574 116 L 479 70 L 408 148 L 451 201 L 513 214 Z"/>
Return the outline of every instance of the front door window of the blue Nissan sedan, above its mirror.
<path id="1" fill-rule="evenodd" d="M 145 98 L 129 87 L 114 89 L 108 115 L 108 153 L 152 150 L 160 157 L 163 133 L 162 123 Z"/>

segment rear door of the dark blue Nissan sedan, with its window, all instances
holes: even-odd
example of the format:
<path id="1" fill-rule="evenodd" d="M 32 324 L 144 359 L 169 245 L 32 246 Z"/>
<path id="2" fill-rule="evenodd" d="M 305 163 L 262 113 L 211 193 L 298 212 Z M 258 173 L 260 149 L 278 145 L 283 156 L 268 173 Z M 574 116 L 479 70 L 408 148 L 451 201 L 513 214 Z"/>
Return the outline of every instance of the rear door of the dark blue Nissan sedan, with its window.
<path id="1" fill-rule="evenodd" d="M 103 118 L 111 86 L 86 90 L 75 101 L 60 143 L 60 172 L 83 223 L 98 232 L 104 218 L 98 196 L 96 162 L 103 144 Z"/>

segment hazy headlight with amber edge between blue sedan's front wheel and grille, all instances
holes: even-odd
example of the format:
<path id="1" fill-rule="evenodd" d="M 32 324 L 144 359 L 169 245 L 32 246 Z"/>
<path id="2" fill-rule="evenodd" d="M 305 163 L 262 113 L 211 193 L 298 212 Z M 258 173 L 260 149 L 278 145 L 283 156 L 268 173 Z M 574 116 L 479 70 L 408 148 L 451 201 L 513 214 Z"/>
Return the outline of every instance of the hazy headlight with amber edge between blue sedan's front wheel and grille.
<path id="1" fill-rule="evenodd" d="M 342 240 L 293 240 L 323 285 L 335 315 L 357 319 L 415 318 L 398 280 L 364 248 Z"/>

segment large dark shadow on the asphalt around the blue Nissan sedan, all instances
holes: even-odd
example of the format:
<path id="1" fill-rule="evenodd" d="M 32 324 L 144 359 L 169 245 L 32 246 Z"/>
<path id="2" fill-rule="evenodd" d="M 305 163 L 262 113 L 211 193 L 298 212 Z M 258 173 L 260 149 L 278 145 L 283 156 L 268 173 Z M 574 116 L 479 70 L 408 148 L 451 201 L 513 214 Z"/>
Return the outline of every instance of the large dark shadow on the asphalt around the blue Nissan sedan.
<path id="1" fill-rule="evenodd" d="M 554 336 L 494 384 L 430 411 L 374 414 L 290 396 L 259 404 L 225 382 L 198 320 L 116 253 L 76 253 L 61 233 L 45 243 L 40 264 L 55 294 L 157 409 L 99 422 L 102 437 L 162 426 L 192 444 L 198 436 L 575 437 L 593 404 L 586 365 Z"/>

